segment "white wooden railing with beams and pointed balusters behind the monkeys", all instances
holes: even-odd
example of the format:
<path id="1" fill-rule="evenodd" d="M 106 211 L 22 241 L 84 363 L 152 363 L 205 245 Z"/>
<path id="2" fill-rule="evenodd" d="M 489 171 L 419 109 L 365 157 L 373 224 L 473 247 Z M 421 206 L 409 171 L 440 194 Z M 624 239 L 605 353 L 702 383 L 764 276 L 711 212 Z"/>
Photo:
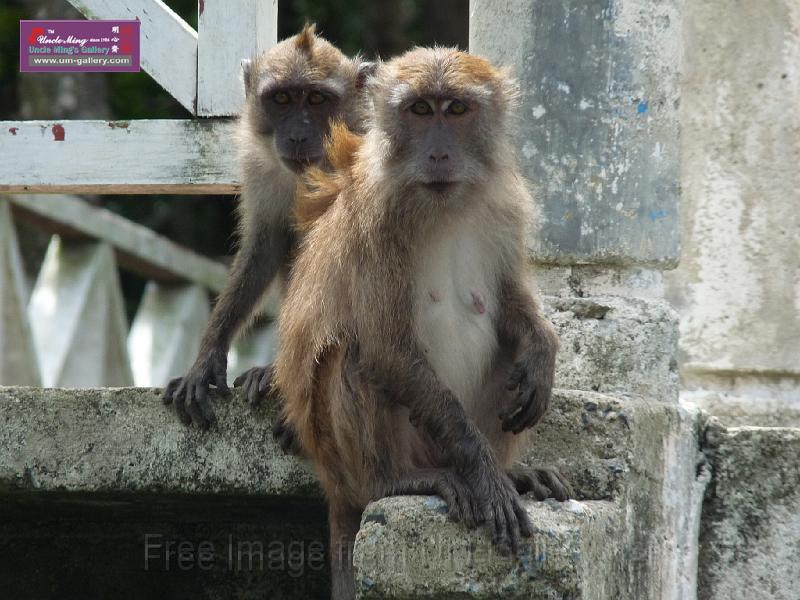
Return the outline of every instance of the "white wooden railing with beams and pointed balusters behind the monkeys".
<path id="1" fill-rule="evenodd" d="M 240 63 L 276 43 L 277 0 L 204 0 L 197 31 L 161 0 L 69 2 L 141 21 L 142 68 L 189 118 L 0 122 L 0 384 L 163 385 L 191 364 L 225 267 L 75 197 L 21 194 L 236 193 Z M 53 234 L 32 286 L 16 219 Z M 130 329 L 118 267 L 149 280 Z M 253 329 L 229 373 L 269 360 L 273 337 Z"/>

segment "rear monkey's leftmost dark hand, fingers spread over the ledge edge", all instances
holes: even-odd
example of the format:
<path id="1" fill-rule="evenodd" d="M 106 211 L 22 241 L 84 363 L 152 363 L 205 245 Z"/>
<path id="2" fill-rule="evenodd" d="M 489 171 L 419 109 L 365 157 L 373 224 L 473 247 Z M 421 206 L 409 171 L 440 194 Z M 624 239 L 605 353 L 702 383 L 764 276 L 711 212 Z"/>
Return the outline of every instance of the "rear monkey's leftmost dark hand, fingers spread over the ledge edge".
<path id="1" fill-rule="evenodd" d="M 217 422 L 209 401 L 209 386 L 214 385 L 218 393 L 230 396 L 227 371 L 226 352 L 223 349 L 212 350 L 199 356 L 184 377 L 172 379 L 161 400 L 164 404 L 175 404 L 175 412 L 184 425 L 194 423 L 201 429 L 208 429 Z"/>

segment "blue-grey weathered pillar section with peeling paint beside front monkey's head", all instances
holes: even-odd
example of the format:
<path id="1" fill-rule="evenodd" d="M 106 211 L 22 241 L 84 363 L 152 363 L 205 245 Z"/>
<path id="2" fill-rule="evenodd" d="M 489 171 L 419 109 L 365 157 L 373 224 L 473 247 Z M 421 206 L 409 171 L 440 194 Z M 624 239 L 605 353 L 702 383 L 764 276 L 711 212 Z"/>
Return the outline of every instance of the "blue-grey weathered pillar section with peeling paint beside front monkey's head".
<path id="1" fill-rule="evenodd" d="M 470 51 L 513 69 L 534 256 L 674 265 L 682 0 L 472 0 Z"/>

